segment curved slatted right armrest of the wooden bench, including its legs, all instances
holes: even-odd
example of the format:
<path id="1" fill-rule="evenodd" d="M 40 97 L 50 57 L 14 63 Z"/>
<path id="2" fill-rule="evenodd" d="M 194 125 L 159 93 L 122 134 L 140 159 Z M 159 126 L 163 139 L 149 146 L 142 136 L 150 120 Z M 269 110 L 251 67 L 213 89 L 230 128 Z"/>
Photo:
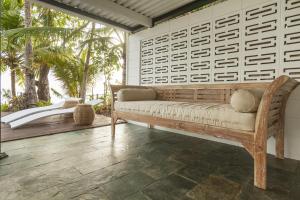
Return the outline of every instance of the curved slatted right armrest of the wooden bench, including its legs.
<path id="1" fill-rule="evenodd" d="M 284 158 L 284 118 L 287 100 L 299 82 L 288 76 L 275 79 L 265 90 L 256 115 L 252 156 L 254 185 L 266 189 L 267 139 L 276 141 L 276 157 Z"/>

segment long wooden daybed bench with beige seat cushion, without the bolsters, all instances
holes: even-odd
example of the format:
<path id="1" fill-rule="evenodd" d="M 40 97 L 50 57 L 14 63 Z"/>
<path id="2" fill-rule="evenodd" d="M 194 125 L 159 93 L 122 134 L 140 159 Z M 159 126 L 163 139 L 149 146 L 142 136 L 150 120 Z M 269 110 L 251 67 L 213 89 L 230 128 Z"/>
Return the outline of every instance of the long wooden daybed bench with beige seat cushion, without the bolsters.
<path id="1" fill-rule="evenodd" d="M 254 159 L 254 185 L 266 189 L 267 139 L 275 137 L 276 156 L 283 159 L 285 107 L 297 85 L 288 76 L 280 76 L 271 83 L 111 85 L 112 134 L 116 121 L 124 119 L 237 141 Z M 157 95 L 155 100 L 118 101 L 118 92 L 124 89 L 152 89 Z M 252 89 L 262 90 L 257 111 L 236 112 L 230 104 L 233 93 Z"/>

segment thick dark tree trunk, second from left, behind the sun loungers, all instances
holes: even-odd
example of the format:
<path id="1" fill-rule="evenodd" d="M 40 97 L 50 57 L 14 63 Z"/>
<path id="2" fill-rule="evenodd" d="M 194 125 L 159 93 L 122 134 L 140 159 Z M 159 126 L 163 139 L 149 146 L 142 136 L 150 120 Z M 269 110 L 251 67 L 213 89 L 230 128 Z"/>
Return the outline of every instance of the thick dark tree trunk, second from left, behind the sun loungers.
<path id="1" fill-rule="evenodd" d="M 37 82 L 37 95 L 40 101 L 49 101 L 50 100 L 50 91 L 49 91 L 49 74 L 50 68 L 47 64 L 42 64 L 39 68 L 39 81 Z"/>

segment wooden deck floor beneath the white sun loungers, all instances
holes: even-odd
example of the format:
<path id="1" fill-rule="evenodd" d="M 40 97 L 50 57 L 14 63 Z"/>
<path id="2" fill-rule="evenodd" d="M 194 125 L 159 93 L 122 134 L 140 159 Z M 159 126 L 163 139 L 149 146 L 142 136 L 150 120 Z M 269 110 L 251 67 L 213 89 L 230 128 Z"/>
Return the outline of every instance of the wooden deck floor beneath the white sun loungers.
<path id="1" fill-rule="evenodd" d="M 8 113 L 1 113 L 2 116 L 5 116 L 6 114 Z M 75 125 L 73 118 L 70 116 L 51 116 L 33 121 L 16 129 L 11 129 L 9 125 L 1 123 L 1 135 L 2 142 L 5 142 L 24 138 L 38 137 L 43 135 L 57 134 L 68 131 L 109 126 L 110 123 L 111 118 L 103 115 L 96 115 L 94 123 L 89 126 Z M 123 122 L 120 121 L 118 123 Z"/>

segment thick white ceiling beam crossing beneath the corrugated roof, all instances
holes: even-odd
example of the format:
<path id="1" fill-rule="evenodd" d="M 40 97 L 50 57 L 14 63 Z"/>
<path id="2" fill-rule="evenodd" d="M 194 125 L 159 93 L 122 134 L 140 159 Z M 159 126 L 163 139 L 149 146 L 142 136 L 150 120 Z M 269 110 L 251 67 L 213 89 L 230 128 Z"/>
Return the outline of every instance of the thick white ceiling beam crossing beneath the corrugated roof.
<path id="1" fill-rule="evenodd" d="M 152 18 L 142 15 L 138 12 L 130 10 L 109 0 L 81 0 L 80 2 L 89 5 L 93 9 L 99 9 L 112 13 L 115 16 L 120 16 L 146 27 L 152 27 Z"/>

